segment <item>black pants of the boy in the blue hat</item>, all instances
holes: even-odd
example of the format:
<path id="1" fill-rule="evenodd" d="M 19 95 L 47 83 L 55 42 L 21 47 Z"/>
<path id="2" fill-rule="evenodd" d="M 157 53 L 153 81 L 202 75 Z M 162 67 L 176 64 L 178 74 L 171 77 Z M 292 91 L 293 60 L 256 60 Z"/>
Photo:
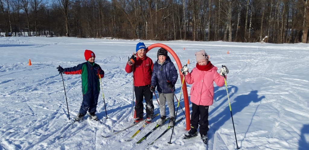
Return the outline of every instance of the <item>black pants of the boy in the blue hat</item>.
<path id="1" fill-rule="evenodd" d="M 150 85 L 146 86 L 134 86 L 136 104 L 135 104 L 135 111 L 136 117 L 143 118 L 143 99 L 145 98 L 146 101 L 146 117 L 153 118 L 154 115 L 154 108 L 155 106 L 152 103 L 152 92 L 150 91 Z"/>

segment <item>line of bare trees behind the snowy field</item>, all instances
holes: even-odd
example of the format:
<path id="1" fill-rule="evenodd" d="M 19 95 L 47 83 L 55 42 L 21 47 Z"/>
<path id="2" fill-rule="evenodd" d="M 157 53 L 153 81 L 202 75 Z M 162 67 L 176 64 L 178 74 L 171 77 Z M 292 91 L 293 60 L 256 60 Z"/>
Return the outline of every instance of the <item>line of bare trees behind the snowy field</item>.
<path id="1" fill-rule="evenodd" d="M 0 0 L 0 36 L 308 43 L 307 0 Z"/>

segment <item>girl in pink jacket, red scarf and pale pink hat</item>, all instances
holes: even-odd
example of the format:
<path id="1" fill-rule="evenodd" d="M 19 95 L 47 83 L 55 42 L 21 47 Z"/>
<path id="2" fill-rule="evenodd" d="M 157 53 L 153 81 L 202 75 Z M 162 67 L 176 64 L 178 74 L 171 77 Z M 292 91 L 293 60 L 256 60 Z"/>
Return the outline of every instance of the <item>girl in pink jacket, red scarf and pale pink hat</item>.
<path id="1" fill-rule="evenodd" d="M 228 69 L 223 66 L 219 74 L 218 68 L 208 60 L 208 55 L 204 49 L 196 52 L 195 56 L 197 64 L 191 73 L 188 72 L 187 66 L 180 70 L 185 75 L 186 82 L 192 84 L 190 91 L 190 101 L 192 102 L 191 129 L 184 139 L 197 136 L 197 128 L 200 124 L 201 138 L 207 144 L 208 108 L 214 102 L 214 82 L 220 87 L 223 86 Z"/>

